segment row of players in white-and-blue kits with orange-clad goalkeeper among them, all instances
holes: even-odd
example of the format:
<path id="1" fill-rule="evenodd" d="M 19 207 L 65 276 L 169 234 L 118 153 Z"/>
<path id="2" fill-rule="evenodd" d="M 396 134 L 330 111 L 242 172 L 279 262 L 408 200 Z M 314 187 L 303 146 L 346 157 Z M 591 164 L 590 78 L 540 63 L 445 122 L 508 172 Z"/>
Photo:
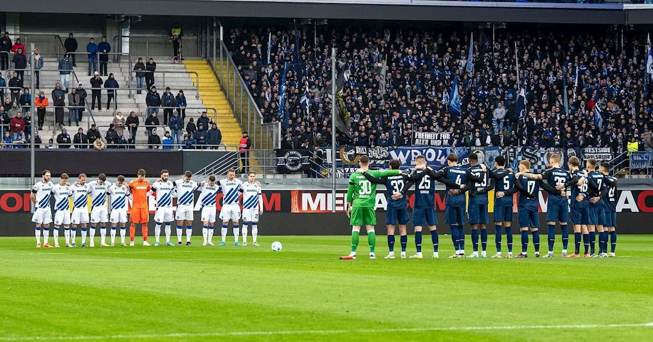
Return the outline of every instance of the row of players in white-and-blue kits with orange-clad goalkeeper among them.
<path id="1" fill-rule="evenodd" d="M 154 195 L 157 198 L 156 211 L 154 215 L 155 238 L 154 246 L 159 246 L 159 236 L 161 235 L 161 226 L 165 225 L 165 235 L 167 246 L 174 246 L 170 242 L 171 224 L 177 223 L 178 244 L 182 245 L 183 226 L 186 230 L 186 245 L 191 245 L 191 236 L 193 234 L 193 209 L 195 201 L 193 192 L 199 191 L 199 201 L 201 205 L 200 216 L 202 220 L 203 245 L 214 246 L 212 242 L 214 224 L 216 221 L 216 198 L 217 193 L 222 192 L 223 205 L 219 214 L 222 220 L 222 242 L 221 246 L 226 245 L 227 231 L 229 221 L 232 221 L 234 233 L 234 244 L 241 246 L 239 242 L 240 229 L 239 221 L 243 218 L 243 243 L 247 244 L 247 228 L 251 225 L 251 235 L 254 246 L 257 243 L 258 221 L 259 216 L 263 214 L 263 199 L 261 195 L 261 183 L 256 180 L 256 174 L 249 172 L 247 182 L 236 179 L 234 169 L 229 169 L 227 178 L 215 182 L 212 175 L 208 180 L 195 182 L 191 178 L 193 174 L 186 171 L 184 177 L 180 180 L 169 180 L 167 170 L 162 170 L 160 178 L 150 183 L 145 178 L 144 169 L 138 170 L 138 178 L 127 184 L 125 177 L 118 176 L 117 182 L 111 184 L 106 181 L 106 175 L 100 174 L 97 180 L 86 182 L 86 175 L 83 173 L 74 184 L 69 183 L 69 176 L 66 173 L 61 174 L 61 180 L 58 184 L 50 182 L 51 173 L 44 170 L 42 179 L 37 182 L 31 190 L 31 201 L 34 203 L 35 210 L 32 221 L 36 224 L 35 236 L 37 239 L 37 248 L 41 247 L 40 236 L 43 235 L 43 247 L 59 247 L 59 229 L 63 225 L 65 246 L 76 247 L 75 237 L 77 228 L 80 227 L 82 235 L 82 247 L 93 247 L 95 238 L 95 229 L 100 227 L 101 246 L 114 246 L 116 231 L 120 230 L 121 246 L 127 246 L 125 243 L 126 224 L 127 224 L 127 199 L 132 200 L 131 223 L 129 235 L 129 246 L 134 246 L 136 225 L 141 225 L 143 233 L 143 245 L 150 246 L 148 243 L 148 221 L 149 207 L 148 197 Z M 242 212 L 240 209 L 239 197 L 243 194 Z M 53 222 L 52 210 L 50 208 L 50 197 L 54 195 L 54 246 L 48 243 L 50 233 L 50 223 Z M 91 214 L 89 220 L 88 197 L 91 199 Z M 110 215 L 107 207 L 111 208 Z M 177 198 L 176 212 L 172 212 L 172 198 Z M 72 199 L 72 213 L 69 205 L 69 198 Z M 87 230 L 87 224 L 90 227 Z M 106 244 L 106 227 L 110 226 L 110 244 Z M 89 233 L 89 245 L 86 244 L 87 233 Z"/>

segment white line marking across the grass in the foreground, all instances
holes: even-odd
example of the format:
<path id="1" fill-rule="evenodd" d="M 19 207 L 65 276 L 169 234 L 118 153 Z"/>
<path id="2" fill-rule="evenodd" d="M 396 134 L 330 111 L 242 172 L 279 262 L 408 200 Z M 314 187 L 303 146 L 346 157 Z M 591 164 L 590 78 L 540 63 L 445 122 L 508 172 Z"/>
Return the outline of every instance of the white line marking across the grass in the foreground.
<path id="1" fill-rule="evenodd" d="M 451 326 L 441 328 L 390 328 L 390 329 L 358 329 L 358 330 L 286 330 L 278 332 L 208 332 L 180 334 L 134 334 L 134 335 L 89 335 L 89 336 L 26 336 L 0 337 L 0 341 L 67 341 L 85 339 L 157 339 L 185 337 L 227 337 L 227 336 L 261 336 L 261 335 L 335 335 L 335 334 L 377 334 L 388 332 L 464 332 L 483 330 L 523 330 L 523 329 L 594 329 L 594 328 L 643 328 L 652 327 L 651 323 L 639 324 L 565 324 L 565 325 L 532 325 L 532 326 Z"/>

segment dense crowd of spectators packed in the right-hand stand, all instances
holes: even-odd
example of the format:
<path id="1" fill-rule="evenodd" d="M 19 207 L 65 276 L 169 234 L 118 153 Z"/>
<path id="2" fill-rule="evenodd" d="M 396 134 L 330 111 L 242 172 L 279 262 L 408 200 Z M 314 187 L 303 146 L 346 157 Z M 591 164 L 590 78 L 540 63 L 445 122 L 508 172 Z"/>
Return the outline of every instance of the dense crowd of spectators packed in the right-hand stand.
<path id="1" fill-rule="evenodd" d="M 621 153 L 635 139 L 652 148 L 644 134 L 653 127 L 653 84 L 645 90 L 645 34 L 632 35 L 622 48 L 596 30 L 503 30 L 494 44 L 491 34 L 477 40 L 475 31 L 468 74 L 469 32 L 359 25 L 315 36 L 312 29 L 230 32 L 234 63 L 264 121 L 283 123 L 287 149 L 331 145 L 332 46 L 338 49 L 337 72 L 345 79 L 342 96 L 351 118 L 349 132 L 338 132 L 340 145 L 406 146 L 411 132 L 419 131 L 451 132 L 449 143 L 456 146 L 611 147 Z M 385 88 L 379 89 L 385 61 Z M 287 126 L 279 112 L 285 64 Z M 449 111 L 454 75 L 460 117 Z M 520 121 L 516 105 L 522 83 L 526 115 Z M 603 118 L 600 127 L 595 107 Z"/>

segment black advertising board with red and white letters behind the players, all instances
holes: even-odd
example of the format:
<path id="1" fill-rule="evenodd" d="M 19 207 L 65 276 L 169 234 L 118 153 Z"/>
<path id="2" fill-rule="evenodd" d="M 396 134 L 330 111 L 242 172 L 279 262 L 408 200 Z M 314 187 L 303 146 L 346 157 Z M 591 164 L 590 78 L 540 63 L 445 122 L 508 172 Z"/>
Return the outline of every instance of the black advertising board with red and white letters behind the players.
<path id="1" fill-rule="evenodd" d="M 219 210 L 221 206 L 217 196 Z M 490 224 L 488 229 L 494 232 L 492 224 L 493 198 L 490 193 Z M 436 212 L 438 229 L 449 234 L 449 227 L 444 224 L 445 192 L 436 193 Z M 262 235 L 343 235 L 349 234 L 349 220 L 344 212 L 345 192 L 336 195 L 336 214 L 331 213 L 332 200 L 328 190 L 270 190 L 263 192 L 264 214 L 259 225 Z M 413 204 L 413 193 L 408 193 L 409 207 Z M 150 228 L 153 228 L 155 199 L 150 198 Z M 385 234 L 385 193 L 377 192 L 377 233 Z M 32 236 L 33 223 L 29 212 L 29 192 L 0 192 L 0 236 Z M 653 190 L 622 190 L 617 201 L 617 229 L 623 234 L 652 234 L 653 225 L 648 221 L 648 213 L 653 212 Z M 199 211 L 199 205 L 195 207 Z M 547 210 L 547 193 L 539 195 L 539 211 Z M 517 208 L 513 208 L 516 212 Z M 199 218 L 199 212 L 195 216 Z M 517 229 L 515 214 L 513 227 Z M 200 229 L 202 223 L 196 220 L 194 227 Z M 469 225 L 466 225 L 469 230 Z M 540 229 L 546 231 L 545 214 L 540 215 Z M 409 231 L 412 231 L 409 228 Z M 516 230 L 515 230 L 516 231 Z"/>

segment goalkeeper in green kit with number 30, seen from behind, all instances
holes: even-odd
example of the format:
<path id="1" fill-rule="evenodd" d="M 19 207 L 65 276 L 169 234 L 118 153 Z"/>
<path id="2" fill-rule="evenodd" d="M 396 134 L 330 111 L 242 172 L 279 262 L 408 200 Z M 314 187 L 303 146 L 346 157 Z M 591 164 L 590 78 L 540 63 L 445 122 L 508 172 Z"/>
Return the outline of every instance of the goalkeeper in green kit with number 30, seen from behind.
<path id="1" fill-rule="evenodd" d="M 368 170 L 370 167 L 370 158 L 368 156 L 360 157 L 358 169 L 349 177 L 349 187 L 347 188 L 347 216 L 351 225 L 351 254 L 340 257 L 342 260 L 356 259 L 356 248 L 358 247 L 358 235 L 360 227 L 365 225 L 368 233 L 368 243 L 370 244 L 370 259 L 376 259 L 374 247 L 376 245 L 376 235 L 374 227 L 376 225 L 376 184 L 373 184 L 364 174 L 369 173 L 373 177 L 388 177 L 399 175 L 399 170 L 373 171 Z"/>

